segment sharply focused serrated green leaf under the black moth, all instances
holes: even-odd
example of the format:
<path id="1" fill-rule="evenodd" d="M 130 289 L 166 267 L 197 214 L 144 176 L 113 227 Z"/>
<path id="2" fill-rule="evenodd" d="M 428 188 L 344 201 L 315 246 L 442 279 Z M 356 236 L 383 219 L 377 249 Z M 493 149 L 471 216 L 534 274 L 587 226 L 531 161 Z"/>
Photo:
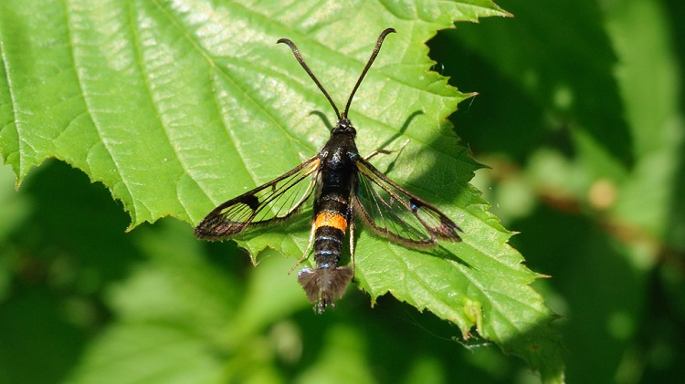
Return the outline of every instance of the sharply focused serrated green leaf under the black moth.
<path id="1" fill-rule="evenodd" d="M 447 122 L 468 95 L 429 71 L 423 44 L 454 21 L 505 16 L 487 0 L 238 4 L 222 1 L 0 5 L 0 151 L 21 181 L 49 157 L 111 189 L 132 227 L 171 215 L 196 223 L 218 202 L 290 170 L 328 136 L 332 112 L 287 47 L 342 105 L 378 33 L 393 26 L 350 118 L 363 153 L 443 209 L 462 244 L 419 253 L 360 231 L 356 278 L 477 331 L 559 377 L 550 312 L 511 233 L 469 186 L 479 165 Z M 325 116 L 325 117 L 323 117 Z M 300 257 L 306 217 L 241 242 Z M 285 271 L 284 271 L 285 273 Z"/>

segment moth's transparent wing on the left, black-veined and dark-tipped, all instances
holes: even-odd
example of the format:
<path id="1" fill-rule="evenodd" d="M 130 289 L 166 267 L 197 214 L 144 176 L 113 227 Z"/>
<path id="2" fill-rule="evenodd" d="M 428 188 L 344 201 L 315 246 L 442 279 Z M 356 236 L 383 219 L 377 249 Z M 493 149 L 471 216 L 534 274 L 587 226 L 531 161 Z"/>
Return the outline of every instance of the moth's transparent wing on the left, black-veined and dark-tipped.
<path id="1" fill-rule="evenodd" d="M 195 235 L 221 240 L 250 227 L 288 219 L 311 197 L 319 165 L 319 158 L 313 157 L 279 178 L 224 202 L 195 227 Z"/>

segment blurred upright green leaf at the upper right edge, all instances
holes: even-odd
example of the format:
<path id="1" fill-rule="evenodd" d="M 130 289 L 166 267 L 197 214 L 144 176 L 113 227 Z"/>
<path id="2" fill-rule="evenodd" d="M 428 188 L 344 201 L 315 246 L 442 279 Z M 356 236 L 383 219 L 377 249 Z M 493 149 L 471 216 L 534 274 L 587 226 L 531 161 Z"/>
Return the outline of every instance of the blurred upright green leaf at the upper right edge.
<path id="1" fill-rule="evenodd" d="M 631 1 L 607 7 L 607 16 L 607 30 L 623 58 L 617 84 L 639 156 L 622 185 L 614 213 L 618 220 L 685 252 L 685 223 L 677 213 L 685 212 L 678 193 L 682 191 L 678 178 L 685 169 L 683 74 L 671 50 L 668 15 L 658 4 Z"/>

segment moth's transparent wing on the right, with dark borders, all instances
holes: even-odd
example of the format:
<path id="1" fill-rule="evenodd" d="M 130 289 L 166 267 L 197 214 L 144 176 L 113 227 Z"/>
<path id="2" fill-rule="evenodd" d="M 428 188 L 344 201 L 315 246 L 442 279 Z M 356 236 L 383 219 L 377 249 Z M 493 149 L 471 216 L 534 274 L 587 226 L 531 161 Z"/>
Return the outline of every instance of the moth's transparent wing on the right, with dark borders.
<path id="1" fill-rule="evenodd" d="M 372 229 L 396 243 L 432 246 L 437 239 L 461 241 L 458 225 L 436 207 L 424 202 L 385 177 L 368 161 L 356 161 L 359 171 L 355 216 Z"/>

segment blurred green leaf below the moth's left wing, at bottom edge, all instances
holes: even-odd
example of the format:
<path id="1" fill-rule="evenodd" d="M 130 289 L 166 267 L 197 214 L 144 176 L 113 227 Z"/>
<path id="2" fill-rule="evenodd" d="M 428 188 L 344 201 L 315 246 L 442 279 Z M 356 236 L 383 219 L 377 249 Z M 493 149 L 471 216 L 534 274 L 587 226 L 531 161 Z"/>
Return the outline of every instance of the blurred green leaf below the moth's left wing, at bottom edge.
<path id="1" fill-rule="evenodd" d="M 267 326 L 307 306 L 294 276 L 283 273 L 288 261 L 269 258 L 250 275 L 246 292 L 236 276 L 207 263 L 186 230 L 175 223 L 142 231 L 139 244 L 151 262 L 111 289 L 118 321 L 90 345 L 71 382 L 245 382 L 271 369 L 245 367 L 276 354 L 275 342 L 256 342 Z M 264 287 L 279 295 L 255 301 L 254 291 Z M 250 316 L 255 308 L 263 311 L 258 317 Z M 227 369 L 223 357 L 239 355 Z"/>

